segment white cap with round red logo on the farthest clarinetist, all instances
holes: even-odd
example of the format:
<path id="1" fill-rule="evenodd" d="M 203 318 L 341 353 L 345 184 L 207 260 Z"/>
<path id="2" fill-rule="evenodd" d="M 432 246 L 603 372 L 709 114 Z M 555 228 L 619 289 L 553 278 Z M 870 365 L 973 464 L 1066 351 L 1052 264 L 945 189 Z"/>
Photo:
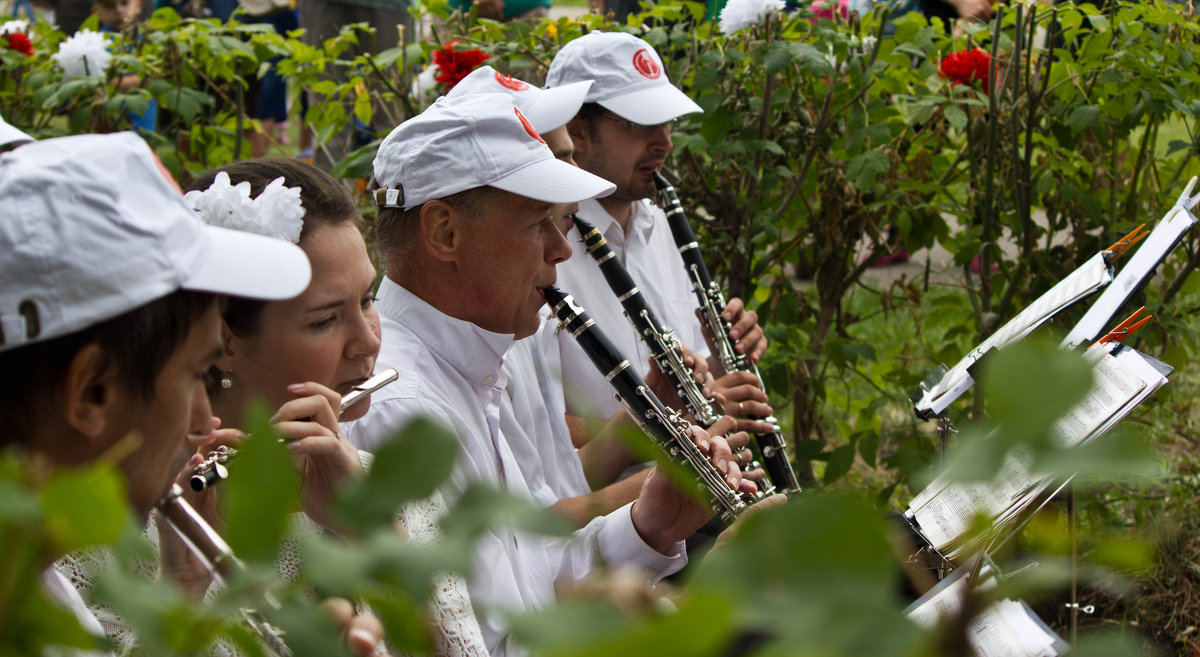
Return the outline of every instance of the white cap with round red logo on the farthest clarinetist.
<path id="1" fill-rule="evenodd" d="M 594 80 L 584 102 L 643 126 L 703 111 L 671 84 L 654 47 L 625 32 L 588 32 L 563 46 L 550 62 L 546 88 L 577 80 Z"/>

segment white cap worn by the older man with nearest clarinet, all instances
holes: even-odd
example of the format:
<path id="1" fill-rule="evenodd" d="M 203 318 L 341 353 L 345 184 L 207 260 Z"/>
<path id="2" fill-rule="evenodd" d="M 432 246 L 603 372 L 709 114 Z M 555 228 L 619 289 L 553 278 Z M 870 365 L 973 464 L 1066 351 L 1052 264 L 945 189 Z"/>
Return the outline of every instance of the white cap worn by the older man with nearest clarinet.
<path id="1" fill-rule="evenodd" d="M 616 189 L 556 159 L 508 94 L 438 98 L 383 140 L 374 177 L 376 203 L 406 210 L 484 186 L 545 203 L 578 203 Z"/>

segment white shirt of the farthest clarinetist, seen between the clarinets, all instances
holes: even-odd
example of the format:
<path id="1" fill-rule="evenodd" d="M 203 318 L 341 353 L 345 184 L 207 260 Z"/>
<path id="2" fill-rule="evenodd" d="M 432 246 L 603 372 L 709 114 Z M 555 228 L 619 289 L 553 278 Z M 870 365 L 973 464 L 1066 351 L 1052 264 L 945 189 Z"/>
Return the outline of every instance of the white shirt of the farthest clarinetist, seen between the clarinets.
<path id="1" fill-rule="evenodd" d="M 666 215 L 642 199 L 634 204 L 629 233 L 622 230 L 617 219 L 595 200 L 580 203 L 578 216 L 600 230 L 664 328 L 674 331 L 676 339 L 707 358 L 708 343 L 695 314 L 696 295 L 671 237 Z M 558 265 L 557 287 L 575 297 L 608 340 L 637 368 L 637 373 L 646 376 L 650 369 L 650 351 L 625 317 L 620 301 L 600 272 L 600 265 L 583 247 L 577 228 L 571 228 L 566 241 L 571 243 L 571 258 Z M 557 339 L 563 362 L 566 412 L 581 417 L 612 417 L 620 409 L 613 398 L 612 385 L 592 364 L 575 338 L 559 332 Z"/>

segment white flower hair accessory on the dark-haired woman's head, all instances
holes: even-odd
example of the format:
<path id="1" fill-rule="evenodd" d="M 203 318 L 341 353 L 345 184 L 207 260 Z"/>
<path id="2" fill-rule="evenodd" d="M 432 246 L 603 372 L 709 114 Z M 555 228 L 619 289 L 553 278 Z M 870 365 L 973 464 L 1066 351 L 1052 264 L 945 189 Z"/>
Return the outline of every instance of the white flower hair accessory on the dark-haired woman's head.
<path id="1" fill-rule="evenodd" d="M 304 204 L 299 187 L 284 187 L 283 176 L 272 180 L 257 199 L 250 198 L 250 182 L 233 185 L 221 171 L 208 189 L 184 194 L 184 201 L 210 225 L 257 233 L 292 243 L 300 241 Z"/>

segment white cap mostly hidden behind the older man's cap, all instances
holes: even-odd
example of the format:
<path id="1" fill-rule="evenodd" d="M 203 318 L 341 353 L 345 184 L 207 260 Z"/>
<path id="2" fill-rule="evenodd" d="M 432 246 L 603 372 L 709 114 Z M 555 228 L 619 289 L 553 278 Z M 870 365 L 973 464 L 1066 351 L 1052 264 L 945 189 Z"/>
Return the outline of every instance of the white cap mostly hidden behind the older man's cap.
<path id="1" fill-rule="evenodd" d="M 521 114 L 529 119 L 533 129 L 547 133 L 566 125 L 580 113 L 583 97 L 592 88 L 592 80 L 580 80 L 554 89 L 539 89 L 527 82 L 505 76 L 491 66 L 480 66 L 458 80 L 446 94 L 457 98 L 467 94 L 508 94 L 512 96 Z"/>

